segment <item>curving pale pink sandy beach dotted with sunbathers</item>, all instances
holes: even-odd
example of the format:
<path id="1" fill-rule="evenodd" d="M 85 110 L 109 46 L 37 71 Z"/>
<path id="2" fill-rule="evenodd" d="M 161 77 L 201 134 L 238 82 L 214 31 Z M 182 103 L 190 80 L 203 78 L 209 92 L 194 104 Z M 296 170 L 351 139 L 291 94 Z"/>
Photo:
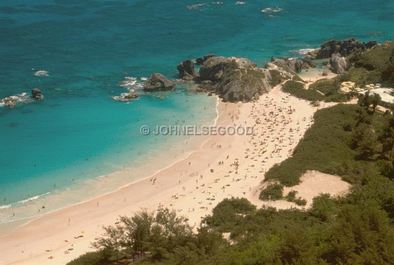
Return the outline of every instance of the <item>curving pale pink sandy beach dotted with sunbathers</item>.
<path id="1" fill-rule="evenodd" d="M 0 264 L 66 264 L 93 250 L 90 242 L 101 235 L 103 225 L 113 225 L 119 215 L 130 216 L 141 208 L 173 208 L 197 227 L 224 198 L 245 197 L 257 206 L 294 207 L 294 203 L 285 201 L 260 201 L 261 183 L 272 165 L 292 154 L 317 109 L 282 92 L 280 86 L 263 94 L 256 103 L 220 102 L 217 125 L 254 126 L 254 134 L 212 136 L 186 159 L 151 178 L 17 228 L 0 237 Z M 315 181 L 314 177 L 305 181 L 308 179 Z M 346 191 L 348 186 L 344 188 L 338 177 L 328 179 L 337 184 L 323 185 L 326 189 L 315 192 L 313 185 L 304 185 L 312 189 L 305 193 L 308 205 L 319 192 Z M 302 183 L 299 186 L 302 189 Z"/>

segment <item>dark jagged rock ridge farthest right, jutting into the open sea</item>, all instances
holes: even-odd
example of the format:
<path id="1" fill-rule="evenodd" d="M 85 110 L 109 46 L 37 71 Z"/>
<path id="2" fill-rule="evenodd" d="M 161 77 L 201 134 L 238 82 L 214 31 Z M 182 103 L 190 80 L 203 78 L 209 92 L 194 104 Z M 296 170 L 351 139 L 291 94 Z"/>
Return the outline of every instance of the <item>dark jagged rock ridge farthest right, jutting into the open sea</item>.
<path id="1" fill-rule="evenodd" d="M 339 53 L 341 57 L 349 56 L 356 48 L 365 51 L 376 46 L 376 41 L 362 42 L 355 38 L 349 38 L 342 41 L 339 40 L 328 40 L 324 42 L 316 54 L 315 59 L 331 58 L 331 55 Z"/>

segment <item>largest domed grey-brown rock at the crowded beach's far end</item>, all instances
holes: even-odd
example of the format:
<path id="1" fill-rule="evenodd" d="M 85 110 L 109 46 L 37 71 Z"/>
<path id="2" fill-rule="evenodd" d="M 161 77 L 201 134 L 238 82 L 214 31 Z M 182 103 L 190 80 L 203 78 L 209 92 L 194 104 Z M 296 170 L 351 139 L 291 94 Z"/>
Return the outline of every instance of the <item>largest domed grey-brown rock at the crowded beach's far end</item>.
<path id="1" fill-rule="evenodd" d="M 265 70 L 239 57 L 207 59 L 199 70 L 199 87 L 215 92 L 224 102 L 253 101 L 270 89 Z"/>

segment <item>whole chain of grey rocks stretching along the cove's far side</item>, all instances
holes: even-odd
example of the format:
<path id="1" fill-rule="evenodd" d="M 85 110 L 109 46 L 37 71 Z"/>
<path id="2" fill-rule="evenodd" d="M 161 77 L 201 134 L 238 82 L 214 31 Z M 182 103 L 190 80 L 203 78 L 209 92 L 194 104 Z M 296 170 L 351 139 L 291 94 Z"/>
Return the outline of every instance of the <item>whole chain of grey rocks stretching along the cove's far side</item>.
<path id="1" fill-rule="evenodd" d="M 179 78 L 194 82 L 197 91 L 208 95 L 217 94 L 224 102 L 250 102 L 286 80 L 303 82 L 297 73 L 316 68 L 315 59 L 329 59 L 329 70 L 344 75 L 355 67 L 357 56 L 370 50 L 384 48 L 376 41 L 362 42 L 355 38 L 328 40 L 320 49 L 311 51 L 302 59 L 281 57 L 271 58 L 263 67 L 250 59 L 241 57 L 223 57 L 214 54 L 202 58 L 185 59 L 177 65 Z M 392 52 L 394 58 L 394 52 Z M 198 71 L 195 65 L 199 66 Z M 357 65 L 356 65 L 357 66 Z M 328 67 L 322 75 L 328 75 Z M 175 81 L 174 81 L 175 82 Z M 144 84 L 145 91 L 168 90 L 174 82 L 159 73 L 152 74 Z"/>

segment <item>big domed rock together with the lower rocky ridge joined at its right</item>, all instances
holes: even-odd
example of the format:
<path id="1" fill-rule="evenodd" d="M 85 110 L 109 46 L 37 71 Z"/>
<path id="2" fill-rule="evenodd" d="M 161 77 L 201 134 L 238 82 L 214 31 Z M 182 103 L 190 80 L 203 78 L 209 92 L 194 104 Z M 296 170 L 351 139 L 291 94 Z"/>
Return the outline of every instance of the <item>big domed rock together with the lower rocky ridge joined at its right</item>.
<path id="1" fill-rule="evenodd" d="M 199 83 L 199 90 L 214 92 L 224 102 L 246 102 L 258 99 L 281 81 L 292 79 L 297 72 L 311 67 L 316 64 L 309 58 L 272 59 L 264 68 L 258 68 L 256 63 L 245 58 L 210 57 L 194 80 Z"/>

